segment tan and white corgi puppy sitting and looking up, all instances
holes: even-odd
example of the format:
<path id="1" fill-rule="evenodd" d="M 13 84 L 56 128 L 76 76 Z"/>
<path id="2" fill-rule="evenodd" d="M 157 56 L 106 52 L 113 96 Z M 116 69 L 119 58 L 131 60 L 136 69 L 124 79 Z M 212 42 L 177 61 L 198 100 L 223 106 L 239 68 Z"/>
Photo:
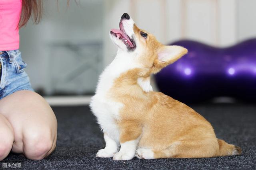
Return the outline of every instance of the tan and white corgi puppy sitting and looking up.
<path id="1" fill-rule="evenodd" d="M 126 13 L 119 27 L 110 31 L 117 55 L 100 75 L 90 102 L 106 142 L 96 156 L 130 160 L 241 154 L 240 147 L 217 139 L 212 125 L 196 111 L 152 91 L 150 75 L 187 49 L 162 45 Z"/>

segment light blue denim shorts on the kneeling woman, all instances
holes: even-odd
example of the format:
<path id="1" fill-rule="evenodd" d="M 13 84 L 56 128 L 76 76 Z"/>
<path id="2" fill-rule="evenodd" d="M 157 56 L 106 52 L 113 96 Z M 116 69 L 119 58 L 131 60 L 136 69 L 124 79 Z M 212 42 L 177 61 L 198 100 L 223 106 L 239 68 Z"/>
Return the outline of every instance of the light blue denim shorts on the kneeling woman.
<path id="1" fill-rule="evenodd" d="M 0 99 L 19 90 L 34 91 L 25 72 L 27 64 L 22 60 L 19 50 L 0 51 L 0 61 Z"/>

